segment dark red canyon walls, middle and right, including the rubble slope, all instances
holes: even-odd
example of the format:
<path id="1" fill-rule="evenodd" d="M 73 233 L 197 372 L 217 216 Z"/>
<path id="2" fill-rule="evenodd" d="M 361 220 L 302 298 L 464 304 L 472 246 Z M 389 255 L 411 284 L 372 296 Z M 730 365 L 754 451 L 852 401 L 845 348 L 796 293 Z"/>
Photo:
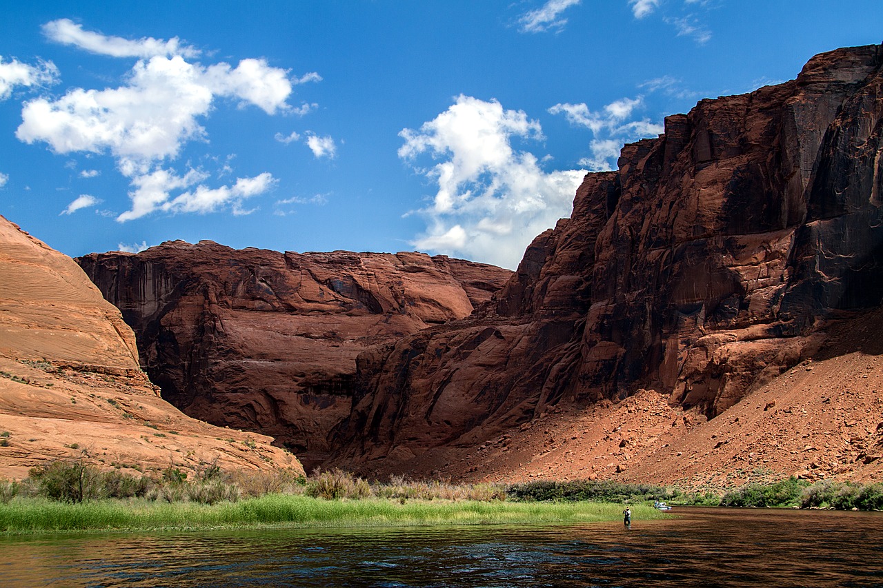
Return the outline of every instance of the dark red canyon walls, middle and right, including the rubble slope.
<path id="1" fill-rule="evenodd" d="M 514 274 L 208 242 L 78 261 L 163 397 L 308 467 L 881 479 L 881 64 L 836 49 L 667 117 Z"/>

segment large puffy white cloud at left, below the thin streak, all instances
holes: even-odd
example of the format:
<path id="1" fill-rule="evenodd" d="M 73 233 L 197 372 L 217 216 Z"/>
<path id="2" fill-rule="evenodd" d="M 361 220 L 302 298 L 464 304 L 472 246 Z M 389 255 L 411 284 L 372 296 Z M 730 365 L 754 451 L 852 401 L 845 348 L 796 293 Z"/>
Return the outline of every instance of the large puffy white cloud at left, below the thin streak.
<path id="1" fill-rule="evenodd" d="M 26 102 L 16 136 L 44 141 L 59 154 L 107 150 L 133 162 L 162 160 L 204 136 L 198 118 L 208 115 L 215 95 L 235 95 L 273 114 L 291 93 L 283 77 L 259 60 L 205 69 L 180 56 L 151 57 L 135 64 L 126 86 L 73 88 L 57 100 Z"/>

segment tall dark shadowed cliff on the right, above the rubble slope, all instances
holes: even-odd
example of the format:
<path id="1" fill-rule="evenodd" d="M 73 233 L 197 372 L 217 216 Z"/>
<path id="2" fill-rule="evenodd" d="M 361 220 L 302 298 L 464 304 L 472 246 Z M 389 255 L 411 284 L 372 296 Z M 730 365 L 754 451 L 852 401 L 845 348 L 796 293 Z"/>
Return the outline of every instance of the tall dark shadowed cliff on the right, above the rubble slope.
<path id="1" fill-rule="evenodd" d="M 714 418 L 811 356 L 883 298 L 881 63 L 821 54 L 624 147 L 479 313 L 358 358 L 331 463 L 455 471 L 460 449 L 642 388 Z"/>

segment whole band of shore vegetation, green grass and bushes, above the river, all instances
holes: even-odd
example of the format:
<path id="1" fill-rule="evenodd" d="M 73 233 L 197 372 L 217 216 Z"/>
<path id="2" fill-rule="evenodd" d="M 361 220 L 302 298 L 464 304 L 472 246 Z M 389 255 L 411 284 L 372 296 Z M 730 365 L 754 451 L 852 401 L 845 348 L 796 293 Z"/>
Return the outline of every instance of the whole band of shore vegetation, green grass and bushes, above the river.
<path id="1" fill-rule="evenodd" d="M 34 468 L 0 481 L 0 533 L 195 529 L 242 526 L 560 524 L 666 516 L 652 501 L 682 505 L 883 508 L 883 485 L 788 479 L 722 496 L 610 481 L 541 480 L 452 485 L 441 480 L 369 482 L 343 471 L 309 478 L 292 471 L 226 473 L 208 465 L 193 479 L 169 468 L 162 479 L 97 471 L 80 462 Z"/>

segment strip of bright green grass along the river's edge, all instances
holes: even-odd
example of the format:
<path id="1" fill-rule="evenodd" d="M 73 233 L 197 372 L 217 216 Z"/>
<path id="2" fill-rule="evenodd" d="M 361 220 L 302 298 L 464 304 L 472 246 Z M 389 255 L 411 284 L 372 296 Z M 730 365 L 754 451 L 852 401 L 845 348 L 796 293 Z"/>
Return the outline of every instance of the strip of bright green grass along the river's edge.
<path id="1" fill-rule="evenodd" d="M 562 524 L 617 520 L 622 505 L 595 502 L 326 501 L 295 494 L 267 494 L 213 506 L 144 499 L 81 503 L 18 497 L 0 504 L 0 533 L 150 531 L 218 527 L 356 527 L 434 524 Z M 633 520 L 662 518 L 633 506 Z"/>

